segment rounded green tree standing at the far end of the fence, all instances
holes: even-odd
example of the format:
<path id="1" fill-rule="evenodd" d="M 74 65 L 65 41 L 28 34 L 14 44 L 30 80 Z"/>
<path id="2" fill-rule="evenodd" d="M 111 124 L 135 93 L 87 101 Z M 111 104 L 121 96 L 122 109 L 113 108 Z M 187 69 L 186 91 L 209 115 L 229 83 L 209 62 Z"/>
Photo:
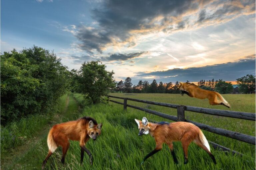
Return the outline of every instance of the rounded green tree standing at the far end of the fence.
<path id="1" fill-rule="evenodd" d="M 84 62 L 78 71 L 79 92 L 93 104 L 115 87 L 113 71 L 107 71 L 101 61 Z"/>

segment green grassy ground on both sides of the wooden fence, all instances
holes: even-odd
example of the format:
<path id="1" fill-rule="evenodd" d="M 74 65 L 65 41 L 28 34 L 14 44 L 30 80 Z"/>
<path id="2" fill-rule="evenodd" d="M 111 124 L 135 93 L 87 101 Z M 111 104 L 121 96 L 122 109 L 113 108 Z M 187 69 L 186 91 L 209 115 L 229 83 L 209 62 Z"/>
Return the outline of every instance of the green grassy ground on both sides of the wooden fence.
<path id="1" fill-rule="evenodd" d="M 145 99 L 150 101 L 159 101 L 165 103 L 182 104 L 190 106 L 198 106 L 205 108 L 243 111 L 255 113 L 255 95 L 223 95 L 230 103 L 231 109 L 224 106 L 210 106 L 207 100 L 198 100 L 189 98 L 187 96 L 180 96 L 176 94 L 111 94 L 114 96 L 129 97 L 136 99 Z M 83 97 L 80 94 L 74 94 L 74 98 L 78 103 L 83 103 Z M 121 101 L 118 99 L 113 99 Z M 165 108 L 154 105 L 147 105 L 137 102 L 128 101 L 128 104 L 145 107 L 148 109 L 160 111 L 166 114 L 177 116 L 176 109 Z M 154 121 L 168 121 L 167 119 L 157 117 L 145 112 L 128 108 L 127 112 L 123 111 L 123 106 L 112 102 L 109 104 L 97 104 L 91 106 L 84 106 L 83 112 L 71 111 L 75 109 L 75 103 L 69 104 L 71 117 L 66 117 L 62 121 L 75 120 L 78 117 L 91 116 L 97 120 L 98 123 L 103 123 L 102 134 L 96 141 L 89 140 L 86 147 L 91 151 L 94 164 L 89 165 L 89 157 L 85 154 L 83 165 L 80 161 L 80 147 L 76 141 L 70 142 L 70 148 L 66 155 L 65 165 L 61 164 L 61 148 L 50 157 L 46 164 L 46 169 L 94 169 L 94 170 L 119 170 L 119 169 L 197 169 L 197 170 L 212 170 L 212 169 L 255 169 L 255 146 L 244 142 L 239 142 L 224 136 L 203 131 L 206 138 L 210 141 L 216 142 L 223 146 L 229 147 L 233 150 L 244 154 L 243 157 L 222 151 L 215 150 L 211 147 L 217 165 L 214 165 L 208 154 L 196 144 L 192 143 L 189 146 L 189 163 L 183 165 L 184 157 L 180 142 L 174 142 L 174 148 L 179 160 L 179 165 L 173 163 L 173 159 L 169 148 L 164 145 L 162 151 L 156 153 L 145 163 L 140 166 L 143 157 L 152 151 L 155 147 L 155 141 L 150 135 L 138 136 L 138 127 L 134 121 L 147 117 Z M 185 112 L 186 119 L 204 123 L 207 125 L 225 128 L 249 135 L 255 136 L 255 122 L 244 121 L 240 119 L 224 118 L 219 116 L 204 115 L 199 113 Z M 48 128 L 49 129 L 49 128 Z M 47 155 L 47 144 L 45 134 L 34 147 L 30 148 L 26 154 L 18 158 L 14 163 L 15 169 L 39 169 L 41 163 Z M 14 168 L 10 168 L 14 169 Z"/>

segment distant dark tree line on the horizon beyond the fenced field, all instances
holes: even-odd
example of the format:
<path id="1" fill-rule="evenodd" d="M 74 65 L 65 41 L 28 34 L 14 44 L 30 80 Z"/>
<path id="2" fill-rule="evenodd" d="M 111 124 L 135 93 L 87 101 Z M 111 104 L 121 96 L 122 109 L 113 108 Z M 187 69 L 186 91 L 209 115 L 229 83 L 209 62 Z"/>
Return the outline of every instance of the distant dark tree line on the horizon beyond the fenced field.
<path id="1" fill-rule="evenodd" d="M 236 79 L 239 92 L 240 93 L 251 93 L 255 92 L 255 75 L 246 75 L 241 78 Z M 175 83 L 163 83 L 162 81 L 157 83 L 154 79 L 150 84 L 148 81 L 139 80 L 138 84 L 133 85 L 132 79 L 127 77 L 124 81 L 121 80 L 116 82 L 115 89 L 112 89 L 113 92 L 119 93 L 180 93 L 179 82 Z M 187 80 L 186 83 L 189 83 Z M 193 83 L 194 84 L 194 83 Z M 221 94 L 230 94 L 233 93 L 234 88 L 231 82 L 226 82 L 222 79 L 219 80 L 200 80 L 197 82 L 197 86 L 204 90 L 217 91 Z"/>

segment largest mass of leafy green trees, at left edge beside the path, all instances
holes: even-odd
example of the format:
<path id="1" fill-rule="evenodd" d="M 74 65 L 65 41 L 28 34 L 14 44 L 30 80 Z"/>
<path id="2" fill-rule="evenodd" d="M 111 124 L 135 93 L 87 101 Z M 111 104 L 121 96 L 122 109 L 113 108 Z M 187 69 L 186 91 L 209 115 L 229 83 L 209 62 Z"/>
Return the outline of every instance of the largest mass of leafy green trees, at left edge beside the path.
<path id="1" fill-rule="evenodd" d="M 53 52 L 33 46 L 1 55 L 1 123 L 48 112 L 69 88 L 70 72 Z"/>

